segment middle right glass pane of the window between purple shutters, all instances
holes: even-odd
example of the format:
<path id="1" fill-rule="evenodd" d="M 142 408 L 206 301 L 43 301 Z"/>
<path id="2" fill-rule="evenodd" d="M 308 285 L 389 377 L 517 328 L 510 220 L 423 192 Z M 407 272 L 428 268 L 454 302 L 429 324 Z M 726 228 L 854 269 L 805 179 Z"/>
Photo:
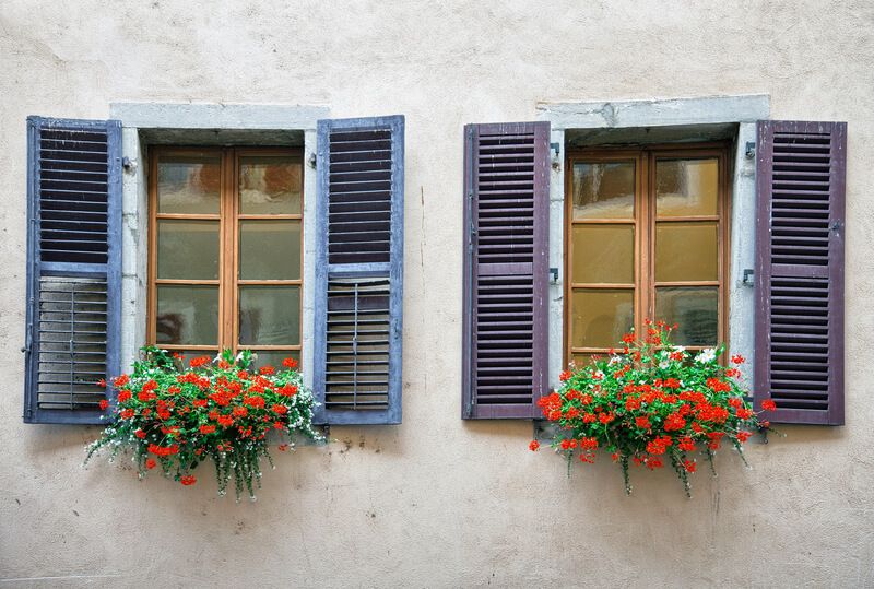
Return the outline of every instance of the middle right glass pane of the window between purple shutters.
<path id="1" fill-rule="evenodd" d="M 656 280 L 718 280 L 718 231 L 717 223 L 709 221 L 657 223 Z"/>

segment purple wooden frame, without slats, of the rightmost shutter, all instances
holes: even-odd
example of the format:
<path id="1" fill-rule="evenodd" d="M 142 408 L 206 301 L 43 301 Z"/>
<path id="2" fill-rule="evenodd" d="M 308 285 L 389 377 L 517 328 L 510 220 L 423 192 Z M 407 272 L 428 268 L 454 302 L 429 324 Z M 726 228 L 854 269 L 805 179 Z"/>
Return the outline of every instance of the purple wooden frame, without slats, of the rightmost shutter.
<path id="1" fill-rule="evenodd" d="M 842 425 L 845 414 L 843 382 L 843 263 L 845 263 L 845 209 L 847 169 L 847 123 L 760 120 L 757 126 L 757 247 L 756 247 L 756 382 L 755 408 L 771 398 L 771 298 L 770 285 L 775 278 L 771 263 L 771 209 L 773 179 L 775 132 L 830 136 L 829 162 L 829 243 L 828 266 L 824 272 L 812 267 L 786 267 L 778 271 L 786 278 L 820 278 L 828 282 L 828 409 L 804 410 L 778 408 L 766 413 L 775 423 Z"/>

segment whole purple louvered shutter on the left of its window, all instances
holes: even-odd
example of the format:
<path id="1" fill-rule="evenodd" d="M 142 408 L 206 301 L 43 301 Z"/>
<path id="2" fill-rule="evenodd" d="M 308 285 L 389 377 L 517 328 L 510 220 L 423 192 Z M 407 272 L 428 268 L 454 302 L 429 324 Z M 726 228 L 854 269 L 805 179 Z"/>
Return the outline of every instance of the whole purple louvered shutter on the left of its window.
<path id="1" fill-rule="evenodd" d="M 548 372 L 550 123 L 464 132 L 462 417 L 532 419 Z"/>

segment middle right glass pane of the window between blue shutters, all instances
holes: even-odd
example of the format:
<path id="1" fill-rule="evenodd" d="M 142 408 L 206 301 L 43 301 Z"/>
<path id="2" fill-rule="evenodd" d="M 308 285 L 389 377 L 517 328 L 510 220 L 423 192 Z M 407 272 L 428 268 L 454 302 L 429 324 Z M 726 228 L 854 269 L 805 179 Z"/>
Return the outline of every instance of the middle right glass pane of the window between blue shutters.
<path id="1" fill-rule="evenodd" d="M 240 221 L 239 278 L 297 280 L 300 278 L 299 221 Z"/>

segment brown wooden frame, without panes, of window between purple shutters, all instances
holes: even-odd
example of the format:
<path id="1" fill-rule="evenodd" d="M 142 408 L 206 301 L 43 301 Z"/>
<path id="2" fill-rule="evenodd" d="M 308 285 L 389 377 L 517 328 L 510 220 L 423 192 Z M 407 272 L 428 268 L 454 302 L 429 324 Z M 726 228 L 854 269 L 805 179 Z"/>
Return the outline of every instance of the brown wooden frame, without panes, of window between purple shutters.
<path id="1" fill-rule="evenodd" d="M 654 318 L 656 288 L 659 286 L 718 286 L 717 340 L 729 343 L 729 274 L 731 269 L 731 176 L 732 160 L 729 156 L 730 145 L 725 142 L 657 144 L 646 146 L 599 146 L 569 150 L 565 162 L 565 203 L 564 203 L 564 326 L 563 326 L 563 365 L 567 366 L 574 354 L 605 354 L 607 347 L 574 347 L 571 345 L 570 304 L 575 288 L 634 288 L 635 331 L 645 329 L 646 318 Z M 716 221 L 718 223 L 718 269 L 717 281 L 656 281 L 656 162 L 668 158 L 712 158 L 718 160 L 718 186 L 716 215 L 659 217 L 659 222 Z M 587 219 L 574 221 L 574 165 L 581 162 L 635 162 L 635 213 L 634 220 L 625 219 Z M 583 224 L 626 224 L 635 227 L 634 245 L 634 284 L 588 284 L 572 282 L 572 227 Z M 646 271 L 643 271 L 646 270 Z M 704 350 L 706 345 L 687 345 L 688 350 Z"/>

